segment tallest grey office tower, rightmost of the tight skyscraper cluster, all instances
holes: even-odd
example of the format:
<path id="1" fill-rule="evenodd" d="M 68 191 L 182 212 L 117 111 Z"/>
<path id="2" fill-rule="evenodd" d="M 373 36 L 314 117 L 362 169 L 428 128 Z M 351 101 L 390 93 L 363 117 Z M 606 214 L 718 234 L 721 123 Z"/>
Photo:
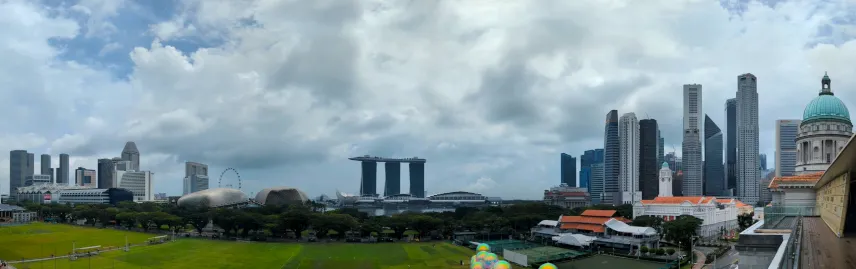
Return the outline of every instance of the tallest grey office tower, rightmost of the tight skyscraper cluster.
<path id="1" fill-rule="evenodd" d="M 737 76 L 737 197 L 746 204 L 758 203 L 758 79 L 752 74 Z"/>

